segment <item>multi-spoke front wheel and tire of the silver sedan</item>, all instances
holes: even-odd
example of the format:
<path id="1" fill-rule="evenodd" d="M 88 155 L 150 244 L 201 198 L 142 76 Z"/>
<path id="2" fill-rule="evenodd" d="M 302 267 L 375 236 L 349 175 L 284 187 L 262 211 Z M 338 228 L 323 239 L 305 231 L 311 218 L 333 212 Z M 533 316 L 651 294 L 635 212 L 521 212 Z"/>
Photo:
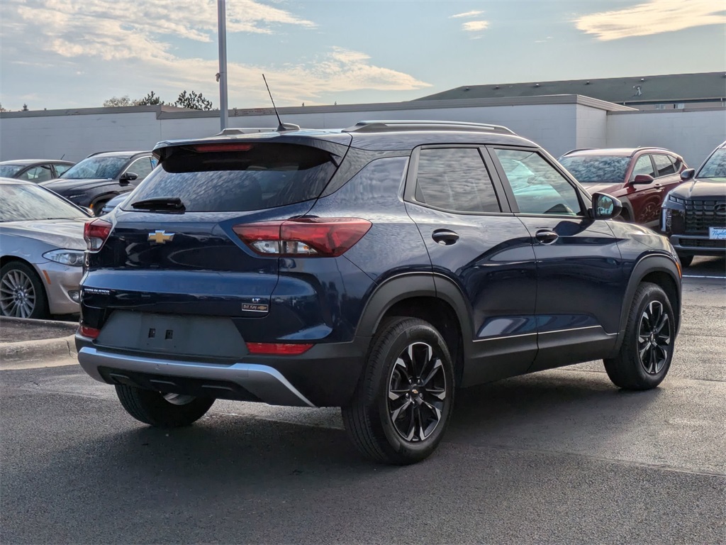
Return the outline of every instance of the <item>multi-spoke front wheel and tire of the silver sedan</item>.
<path id="1" fill-rule="evenodd" d="M 11 261 L 0 268 L 0 315 L 12 318 L 47 318 L 45 287 L 33 267 Z"/>

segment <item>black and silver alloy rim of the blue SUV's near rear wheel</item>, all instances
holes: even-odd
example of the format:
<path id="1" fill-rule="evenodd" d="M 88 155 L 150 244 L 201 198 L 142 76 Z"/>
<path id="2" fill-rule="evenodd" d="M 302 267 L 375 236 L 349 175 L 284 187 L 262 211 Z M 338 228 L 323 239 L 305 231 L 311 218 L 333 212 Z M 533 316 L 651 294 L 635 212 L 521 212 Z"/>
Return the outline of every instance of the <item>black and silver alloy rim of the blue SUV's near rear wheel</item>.
<path id="1" fill-rule="evenodd" d="M 407 441 L 431 436 L 441 421 L 446 399 L 446 374 L 433 347 L 425 342 L 409 344 L 388 379 L 388 415 L 396 432 Z"/>

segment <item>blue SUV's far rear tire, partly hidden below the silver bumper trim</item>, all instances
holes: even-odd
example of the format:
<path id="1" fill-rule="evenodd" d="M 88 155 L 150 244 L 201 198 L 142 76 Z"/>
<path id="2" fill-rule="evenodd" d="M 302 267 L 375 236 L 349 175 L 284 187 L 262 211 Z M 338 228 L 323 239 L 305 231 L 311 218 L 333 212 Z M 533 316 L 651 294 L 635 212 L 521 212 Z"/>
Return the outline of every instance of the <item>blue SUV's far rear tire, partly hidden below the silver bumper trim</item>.
<path id="1" fill-rule="evenodd" d="M 116 395 L 136 420 L 160 428 L 189 426 L 202 418 L 214 403 L 213 397 L 164 395 L 126 384 L 116 385 Z"/>

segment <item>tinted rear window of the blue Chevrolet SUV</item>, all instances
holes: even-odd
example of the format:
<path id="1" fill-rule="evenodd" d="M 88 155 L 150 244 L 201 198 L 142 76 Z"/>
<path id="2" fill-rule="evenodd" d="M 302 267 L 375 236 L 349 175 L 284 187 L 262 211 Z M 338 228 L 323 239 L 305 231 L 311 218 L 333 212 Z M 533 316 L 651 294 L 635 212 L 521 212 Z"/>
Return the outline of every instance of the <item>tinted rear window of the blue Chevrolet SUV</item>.
<path id="1" fill-rule="evenodd" d="M 230 142 L 225 145 L 232 146 Z M 330 154 L 306 145 L 240 142 L 236 149 L 189 145 L 139 185 L 123 209 L 152 198 L 179 198 L 189 212 L 249 211 L 317 198 L 335 174 Z"/>

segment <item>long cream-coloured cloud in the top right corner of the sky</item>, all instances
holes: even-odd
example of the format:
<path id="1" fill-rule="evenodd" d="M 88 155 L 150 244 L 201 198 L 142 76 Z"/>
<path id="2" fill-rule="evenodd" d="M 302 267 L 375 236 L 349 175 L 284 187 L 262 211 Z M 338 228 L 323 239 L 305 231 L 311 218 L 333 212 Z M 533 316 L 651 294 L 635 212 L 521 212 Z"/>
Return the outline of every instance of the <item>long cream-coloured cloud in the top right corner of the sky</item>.
<path id="1" fill-rule="evenodd" d="M 600 41 L 650 36 L 703 25 L 726 24 L 723 0 L 650 0 L 644 4 L 583 15 L 575 26 Z"/>

